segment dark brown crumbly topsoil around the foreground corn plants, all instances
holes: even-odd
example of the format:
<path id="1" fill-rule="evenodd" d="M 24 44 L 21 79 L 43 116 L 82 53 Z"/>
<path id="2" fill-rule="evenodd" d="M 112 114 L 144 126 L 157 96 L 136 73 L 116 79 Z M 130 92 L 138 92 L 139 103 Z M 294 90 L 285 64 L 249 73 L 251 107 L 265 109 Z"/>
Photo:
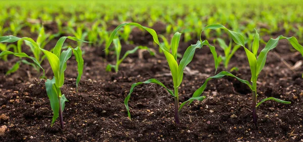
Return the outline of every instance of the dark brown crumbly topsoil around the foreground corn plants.
<path id="1" fill-rule="evenodd" d="M 160 28 L 159 28 L 160 27 Z M 163 32 L 161 24 L 156 28 Z M 272 37 L 277 37 L 272 35 Z M 263 37 L 265 41 L 269 37 Z M 152 37 L 134 29 L 134 45 L 122 43 L 122 55 L 136 45 L 153 45 Z M 179 53 L 190 44 L 181 39 Z M 50 45 L 56 44 L 52 41 Z M 75 44 L 75 43 L 74 43 Z M 222 49 L 216 46 L 218 54 Z M 260 50 L 264 45 L 261 45 Z M 46 47 L 46 48 L 51 48 Z M 303 139 L 303 72 L 302 65 L 293 66 L 303 58 L 293 52 L 286 40 L 268 53 L 266 65 L 258 80 L 258 101 L 276 97 L 291 104 L 267 101 L 258 107 L 258 125 L 252 122 L 251 92 L 237 80 L 224 77 L 207 85 L 202 102 L 193 102 L 180 111 L 180 124 L 174 122 L 173 97 L 159 85 L 139 85 L 134 89 L 129 106 L 132 119 L 128 119 L 124 98 L 130 86 L 139 81 L 155 78 L 173 89 L 169 66 L 163 54 L 150 56 L 143 51 L 129 55 L 120 65 L 118 73 L 105 71 L 114 57 L 105 57 L 102 47 L 82 47 L 84 74 L 76 91 L 77 62 L 68 61 L 62 92 L 69 102 L 63 112 L 65 128 L 59 120 L 51 127 L 52 110 L 46 95 L 45 80 L 30 66 L 5 76 L 18 60 L 0 62 L 0 141 L 300 141 Z M 26 50 L 25 50 L 26 51 Z M 28 52 L 29 53 L 29 52 Z M 229 68 L 241 79 L 250 80 L 250 70 L 243 48 L 230 61 Z M 30 54 L 30 53 L 29 53 Z M 284 61 L 281 61 L 284 60 Z M 51 79 L 47 61 L 42 66 Z M 221 64 L 218 72 L 225 70 Z M 215 74 L 212 54 L 207 46 L 197 49 L 190 72 L 185 72 L 179 88 L 180 102 L 186 101 L 204 81 Z"/>

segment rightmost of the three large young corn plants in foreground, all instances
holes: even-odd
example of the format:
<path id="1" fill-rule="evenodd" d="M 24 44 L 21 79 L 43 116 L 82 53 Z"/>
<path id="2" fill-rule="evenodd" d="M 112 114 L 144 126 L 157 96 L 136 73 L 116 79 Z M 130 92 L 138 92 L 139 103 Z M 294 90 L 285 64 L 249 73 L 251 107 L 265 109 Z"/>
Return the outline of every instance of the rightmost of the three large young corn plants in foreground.
<path id="1" fill-rule="evenodd" d="M 278 41 L 281 40 L 281 39 L 287 39 L 290 44 L 292 45 L 292 47 L 294 49 L 296 49 L 297 51 L 299 51 L 302 56 L 303 56 L 303 47 L 302 45 L 300 45 L 297 41 L 297 39 L 295 37 L 284 37 L 282 35 L 278 36 L 277 38 L 275 39 L 270 39 L 266 46 L 264 47 L 264 49 L 262 49 L 262 51 L 259 53 L 258 55 L 258 49 L 259 49 L 259 42 L 260 42 L 260 36 L 257 32 L 257 30 L 255 29 L 256 33 L 255 33 L 255 37 L 254 37 L 254 41 L 252 43 L 252 52 L 249 51 L 246 47 L 245 47 L 245 44 L 244 44 L 244 36 L 237 33 L 237 32 L 234 32 L 234 31 L 230 31 L 228 30 L 227 28 L 225 28 L 223 25 L 220 25 L 220 24 L 213 24 L 213 25 L 208 25 L 206 26 L 202 32 L 206 29 L 223 29 L 223 30 L 226 30 L 229 32 L 229 34 L 231 35 L 233 41 L 235 43 L 237 43 L 238 45 L 242 46 L 245 50 L 245 53 L 246 53 L 246 56 L 247 56 L 247 59 L 248 59 L 248 62 L 249 62 L 249 66 L 250 66 L 250 72 L 251 72 L 251 78 L 250 78 L 250 82 L 252 84 L 250 84 L 248 81 L 246 80 L 242 80 L 242 79 L 239 79 L 237 78 L 236 76 L 232 75 L 231 73 L 229 72 L 226 72 L 226 71 L 223 71 L 223 72 L 220 72 L 218 75 L 216 76 L 213 76 L 213 77 L 210 77 L 208 78 L 205 83 L 203 84 L 203 86 L 201 86 L 198 90 L 199 92 L 203 92 L 208 81 L 211 80 L 211 79 L 219 79 L 219 78 L 223 78 L 224 76 L 230 76 L 230 77 L 233 77 L 233 78 L 236 78 L 238 81 L 246 84 L 251 92 L 252 92 L 252 104 L 251 104 L 251 109 L 252 109 L 252 118 L 253 118 L 253 122 L 257 125 L 257 107 L 260 106 L 262 103 L 264 103 L 265 101 L 268 101 L 268 100 L 274 100 L 276 102 L 279 102 L 279 103 L 284 103 L 284 104 L 290 104 L 291 102 L 288 102 L 288 101 L 283 101 L 283 100 L 280 100 L 280 99 L 277 99 L 277 98 L 274 98 L 274 97 L 269 97 L 269 98 L 266 98 L 266 99 L 263 99 L 261 100 L 259 103 L 258 103 L 258 100 L 257 100 L 257 80 L 258 80 L 258 77 L 263 69 L 263 67 L 265 66 L 265 62 L 266 62 L 266 57 L 267 57 L 267 53 L 274 49 L 277 44 L 278 44 Z M 201 33 L 202 33 L 201 32 Z M 199 93 L 196 93 L 194 94 L 192 97 L 198 97 L 199 96 Z"/>

